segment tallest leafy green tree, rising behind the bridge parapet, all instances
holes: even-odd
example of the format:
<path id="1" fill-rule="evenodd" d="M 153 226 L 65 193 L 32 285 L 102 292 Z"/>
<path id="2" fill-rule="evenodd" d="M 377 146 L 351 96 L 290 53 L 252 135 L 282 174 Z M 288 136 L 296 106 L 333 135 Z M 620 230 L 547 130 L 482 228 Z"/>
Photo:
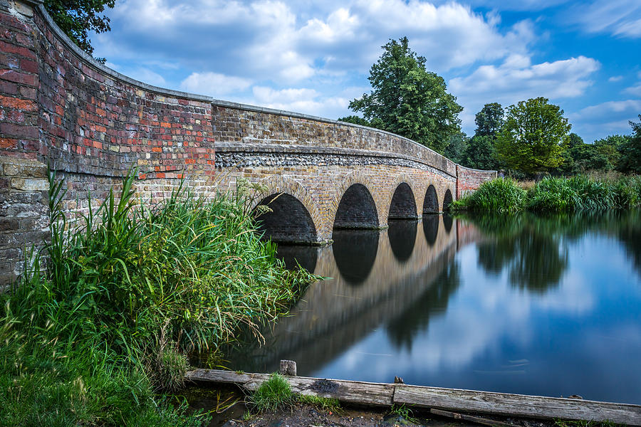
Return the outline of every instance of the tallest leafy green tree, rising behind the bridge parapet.
<path id="1" fill-rule="evenodd" d="M 459 132 L 463 107 L 447 93 L 445 80 L 425 70 L 425 58 L 410 50 L 407 37 L 382 46 L 370 68 L 372 92 L 350 102 L 373 127 L 397 133 L 442 152 Z"/>

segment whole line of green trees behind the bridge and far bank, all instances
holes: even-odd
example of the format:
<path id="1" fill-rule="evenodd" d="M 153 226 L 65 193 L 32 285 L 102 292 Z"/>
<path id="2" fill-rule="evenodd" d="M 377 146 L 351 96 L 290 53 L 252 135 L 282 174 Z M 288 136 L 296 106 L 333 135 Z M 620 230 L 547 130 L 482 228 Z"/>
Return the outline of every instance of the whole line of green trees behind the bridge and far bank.
<path id="1" fill-rule="evenodd" d="M 363 117 L 338 120 L 413 139 L 465 167 L 505 170 L 519 178 L 541 172 L 641 173 L 641 122 L 630 122 L 631 135 L 586 144 L 570 133 L 561 107 L 536 97 L 505 109 L 498 102 L 484 105 L 476 113 L 474 135 L 468 137 L 458 117 L 463 108 L 447 93 L 444 79 L 426 70 L 425 58 L 410 49 L 407 37 L 382 48 L 370 68 L 372 91 L 350 102 L 350 109 Z"/>

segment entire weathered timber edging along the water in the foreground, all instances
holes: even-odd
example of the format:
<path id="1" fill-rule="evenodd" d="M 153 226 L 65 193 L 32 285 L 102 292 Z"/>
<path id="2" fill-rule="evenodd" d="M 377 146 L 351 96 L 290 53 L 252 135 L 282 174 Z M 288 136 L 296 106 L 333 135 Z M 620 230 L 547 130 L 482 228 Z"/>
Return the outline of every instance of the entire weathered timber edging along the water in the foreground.
<path id="1" fill-rule="evenodd" d="M 187 380 L 238 384 L 248 391 L 257 389 L 269 374 L 244 374 L 215 369 L 187 372 Z M 613 421 L 628 426 L 641 426 L 641 406 L 609 402 L 526 396 L 444 389 L 441 387 L 381 384 L 364 381 L 319 379 L 287 376 L 292 391 L 299 394 L 338 399 L 345 403 L 391 406 L 392 404 L 436 408 L 446 411 L 488 413 L 528 418 L 561 418 L 567 420 Z M 467 415 L 466 415 L 467 416 Z M 471 420 L 470 420 L 471 421 Z M 498 423 L 494 423 L 498 425 Z"/>

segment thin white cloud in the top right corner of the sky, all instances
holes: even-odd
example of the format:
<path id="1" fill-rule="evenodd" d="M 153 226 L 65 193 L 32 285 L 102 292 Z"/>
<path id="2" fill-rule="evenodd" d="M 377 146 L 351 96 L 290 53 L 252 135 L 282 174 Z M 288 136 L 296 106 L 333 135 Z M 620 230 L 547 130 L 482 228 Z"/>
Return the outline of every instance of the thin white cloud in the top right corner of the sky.
<path id="1" fill-rule="evenodd" d="M 596 0 L 570 11 L 588 33 L 610 33 L 625 38 L 641 37 L 641 2 Z"/>

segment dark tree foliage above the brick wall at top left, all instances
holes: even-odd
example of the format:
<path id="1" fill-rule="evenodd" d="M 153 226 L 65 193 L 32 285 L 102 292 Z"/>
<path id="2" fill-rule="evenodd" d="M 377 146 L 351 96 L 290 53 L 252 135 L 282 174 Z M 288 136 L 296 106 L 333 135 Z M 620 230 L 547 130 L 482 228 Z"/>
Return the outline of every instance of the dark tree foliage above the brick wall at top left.
<path id="1" fill-rule="evenodd" d="M 89 55 L 93 54 L 89 31 L 110 31 L 109 18 L 100 14 L 105 11 L 105 6 L 113 8 L 114 5 L 115 0 L 44 0 L 45 9 L 53 21 Z M 103 58 L 98 60 L 104 62 Z"/>

